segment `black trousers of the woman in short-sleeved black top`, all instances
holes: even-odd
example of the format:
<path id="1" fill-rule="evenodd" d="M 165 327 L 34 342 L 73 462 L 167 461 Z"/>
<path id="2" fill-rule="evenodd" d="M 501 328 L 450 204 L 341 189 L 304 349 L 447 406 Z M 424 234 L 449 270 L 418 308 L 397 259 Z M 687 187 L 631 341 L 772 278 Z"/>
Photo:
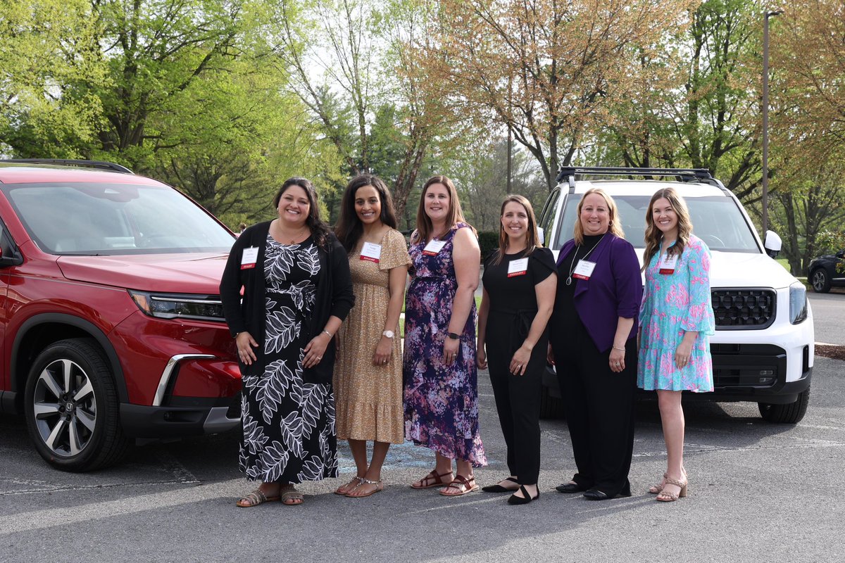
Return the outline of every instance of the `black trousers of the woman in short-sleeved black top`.
<path id="1" fill-rule="evenodd" d="M 534 485 L 540 475 L 540 391 L 547 345 L 548 337 L 543 335 L 532 350 L 524 376 L 508 370 L 515 352 L 512 346 L 487 346 L 490 383 L 508 447 L 508 469 L 520 485 Z"/>

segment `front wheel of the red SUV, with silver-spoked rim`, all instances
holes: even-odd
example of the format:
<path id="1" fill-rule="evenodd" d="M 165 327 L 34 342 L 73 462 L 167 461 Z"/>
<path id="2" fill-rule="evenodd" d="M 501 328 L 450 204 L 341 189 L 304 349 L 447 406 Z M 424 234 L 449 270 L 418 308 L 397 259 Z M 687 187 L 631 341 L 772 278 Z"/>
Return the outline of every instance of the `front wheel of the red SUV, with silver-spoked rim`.
<path id="1" fill-rule="evenodd" d="M 26 380 L 25 416 L 35 449 L 65 471 L 107 467 L 128 446 L 112 368 L 88 338 L 61 340 L 38 355 Z"/>

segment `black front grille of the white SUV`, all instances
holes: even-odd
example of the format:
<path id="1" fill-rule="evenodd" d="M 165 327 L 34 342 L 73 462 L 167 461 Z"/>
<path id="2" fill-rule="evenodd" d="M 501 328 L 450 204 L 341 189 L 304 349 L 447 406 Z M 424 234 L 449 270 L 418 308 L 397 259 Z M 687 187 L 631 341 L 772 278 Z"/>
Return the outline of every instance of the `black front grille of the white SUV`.
<path id="1" fill-rule="evenodd" d="M 717 330 L 766 328 L 775 320 L 772 290 L 712 290 Z"/>

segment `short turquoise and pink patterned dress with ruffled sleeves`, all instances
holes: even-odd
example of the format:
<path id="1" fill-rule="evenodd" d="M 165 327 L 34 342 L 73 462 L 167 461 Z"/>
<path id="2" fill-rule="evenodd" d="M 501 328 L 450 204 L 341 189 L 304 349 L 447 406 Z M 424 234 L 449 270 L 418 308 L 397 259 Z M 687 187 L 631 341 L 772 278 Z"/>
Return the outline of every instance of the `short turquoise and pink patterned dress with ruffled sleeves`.
<path id="1" fill-rule="evenodd" d="M 646 268 L 637 386 L 647 391 L 712 391 L 709 337 L 716 323 L 710 295 L 710 249 L 690 235 L 673 273 L 660 273 L 660 258 L 655 254 Z M 679 369 L 675 349 L 688 331 L 697 331 L 698 338 L 690 362 Z"/>

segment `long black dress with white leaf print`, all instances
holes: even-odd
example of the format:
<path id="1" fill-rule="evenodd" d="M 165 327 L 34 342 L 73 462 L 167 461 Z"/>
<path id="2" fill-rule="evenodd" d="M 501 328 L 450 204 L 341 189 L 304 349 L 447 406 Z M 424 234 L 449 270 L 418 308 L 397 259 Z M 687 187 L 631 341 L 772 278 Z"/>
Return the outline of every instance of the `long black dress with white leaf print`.
<path id="1" fill-rule="evenodd" d="M 264 370 L 243 377 L 239 465 L 248 479 L 302 483 L 337 476 L 331 386 L 303 381 L 319 269 L 313 238 L 285 245 L 267 235 Z"/>

